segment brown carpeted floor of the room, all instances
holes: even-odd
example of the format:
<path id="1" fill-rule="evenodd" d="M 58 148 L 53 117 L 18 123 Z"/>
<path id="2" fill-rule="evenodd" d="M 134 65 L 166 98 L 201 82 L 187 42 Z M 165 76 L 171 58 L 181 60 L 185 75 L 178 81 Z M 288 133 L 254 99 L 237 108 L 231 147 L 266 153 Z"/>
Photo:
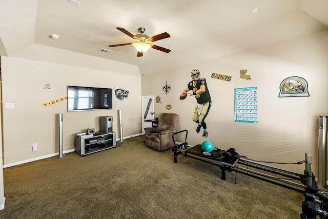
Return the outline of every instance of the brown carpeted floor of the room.
<path id="1" fill-rule="evenodd" d="M 145 136 L 80 156 L 4 169 L 0 218 L 300 218 L 302 193 L 220 169 L 172 150 L 147 148 Z"/>

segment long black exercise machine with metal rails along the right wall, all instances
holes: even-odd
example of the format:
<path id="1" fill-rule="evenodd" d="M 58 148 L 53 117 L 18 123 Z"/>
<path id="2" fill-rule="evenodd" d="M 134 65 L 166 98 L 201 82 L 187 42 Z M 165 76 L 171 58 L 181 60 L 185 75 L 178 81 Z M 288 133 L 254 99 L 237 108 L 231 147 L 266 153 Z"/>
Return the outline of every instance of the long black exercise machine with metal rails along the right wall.
<path id="1" fill-rule="evenodd" d="M 175 135 L 179 135 L 182 132 L 186 132 L 185 142 L 177 144 L 175 141 Z M 315 219 L 316 215 L 319 215 L 320 218 L 328 218 L 328 192 L 319 191 L 315 181 L 315 176 L 312 173 L 311 158 L 308 157 L 308 154 L 305 153 L 304 173 L 300 174 L 249 161 L 244 156 L 236 153 L 233 148 L 230 148 L 227 151 L 219 149 L 222 152 L 222 155 L 219 157 L 203 155 L 200 151 L 201 149 L 199 149 L 201 145 L 188 145 L 187 136 L 188 130 L 182 130 L 172 134 L 174 143 L 174 147 L 172 148 L 172 151 L 174 152 L 174 163 L 177 163 L 178 155 L 183 155 L 185 157 L 191 157 L 220 167 L 222 180 L 226 180 L 226 171 L 235 171 L 236 173 L 245 174 L 265 182 L 301 192 L 305 197 L 305 201 L 302 202 L 302 213 L 300 214 L 301 219 Z M 226 156 L 224 156 L 228 154 L 227 152 L 232 153 L 230 159 L 227 159 Z M 316 199 L 316 196 L 319 197 L 319 200 Z"/>

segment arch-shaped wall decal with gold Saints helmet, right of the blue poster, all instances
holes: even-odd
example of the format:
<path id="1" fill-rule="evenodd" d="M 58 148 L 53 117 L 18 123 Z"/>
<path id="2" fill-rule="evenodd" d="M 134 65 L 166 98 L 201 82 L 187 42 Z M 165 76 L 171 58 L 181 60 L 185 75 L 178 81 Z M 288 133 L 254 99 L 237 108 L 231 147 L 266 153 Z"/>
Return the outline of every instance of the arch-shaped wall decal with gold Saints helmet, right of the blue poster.
<path id="1" fill-rule="evenodd" d="M 292 76 L 280 83 L 279 97 L 310 96 L 308 82 L 304 78 Z"/>

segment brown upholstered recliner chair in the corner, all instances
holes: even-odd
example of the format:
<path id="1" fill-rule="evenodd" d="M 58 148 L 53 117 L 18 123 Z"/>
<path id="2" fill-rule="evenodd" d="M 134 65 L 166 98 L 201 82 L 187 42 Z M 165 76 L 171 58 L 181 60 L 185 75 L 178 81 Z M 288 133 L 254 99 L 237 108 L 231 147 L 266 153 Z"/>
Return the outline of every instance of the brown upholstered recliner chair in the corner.
<path id="1" fill-rule="evenodd" d="M 172 134 L 177 132 L 179 115 L 162 113 L 158 118 L 158 127 L 145 128 L 146 146 L 163 151 L 174 146 Z"/>

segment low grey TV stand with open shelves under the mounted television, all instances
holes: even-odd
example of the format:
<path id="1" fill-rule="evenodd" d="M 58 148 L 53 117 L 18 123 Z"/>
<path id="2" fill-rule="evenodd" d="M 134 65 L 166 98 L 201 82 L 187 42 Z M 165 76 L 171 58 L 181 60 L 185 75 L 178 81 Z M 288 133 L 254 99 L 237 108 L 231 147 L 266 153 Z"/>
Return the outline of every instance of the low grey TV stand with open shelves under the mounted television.
<path id="1" fill-rule="evenodd" d="M 96 133 L 75 135 L 75 151 L 85 156 L 98 151 L 116 147 L 116 133 Z"/>

